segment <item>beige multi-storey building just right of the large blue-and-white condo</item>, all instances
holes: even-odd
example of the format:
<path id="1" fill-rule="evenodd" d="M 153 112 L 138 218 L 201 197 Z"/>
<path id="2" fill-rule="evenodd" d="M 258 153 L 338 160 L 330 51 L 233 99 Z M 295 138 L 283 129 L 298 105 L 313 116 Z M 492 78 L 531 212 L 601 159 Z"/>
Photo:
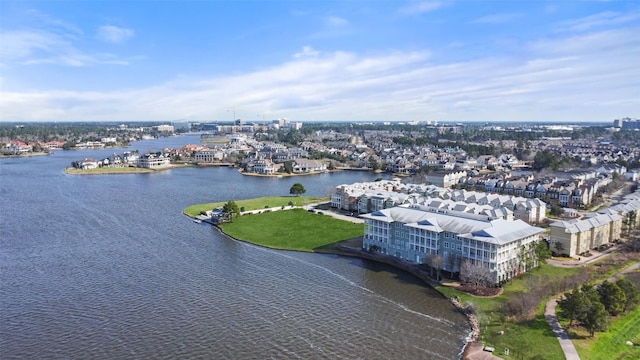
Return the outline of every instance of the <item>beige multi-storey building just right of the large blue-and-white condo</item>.
<path id="1" fill-rule="evenodd" d="M 619 240 L 622 217 L 616 214 L 597 214 L 581 220 L 556 221 L 549 226 L 551 251 L 573 257 Z"/>

